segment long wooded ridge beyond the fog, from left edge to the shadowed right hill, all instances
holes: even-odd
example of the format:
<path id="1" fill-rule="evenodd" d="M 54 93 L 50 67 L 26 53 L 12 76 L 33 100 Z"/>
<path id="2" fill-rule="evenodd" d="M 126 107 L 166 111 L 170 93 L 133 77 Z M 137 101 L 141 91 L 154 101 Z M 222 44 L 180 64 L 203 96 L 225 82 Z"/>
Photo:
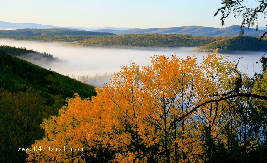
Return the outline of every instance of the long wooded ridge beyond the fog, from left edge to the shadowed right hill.
<path id="1" fill-rule="evenodd" d="M 224 37 L 178 34 L 129 34 L 115 36 L 0 36 L 19 40 L 68 42 L 80 46 L 197 47 Z"/>

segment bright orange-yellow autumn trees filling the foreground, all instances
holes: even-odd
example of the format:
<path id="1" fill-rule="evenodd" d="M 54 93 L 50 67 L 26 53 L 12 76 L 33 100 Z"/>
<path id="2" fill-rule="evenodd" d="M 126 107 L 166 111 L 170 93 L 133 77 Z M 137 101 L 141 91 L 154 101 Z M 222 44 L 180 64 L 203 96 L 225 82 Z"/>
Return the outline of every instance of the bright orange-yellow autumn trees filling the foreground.
<path id="1" fill-rule="evenodd" d="M 76 94 L 58 116 L 44 120 L 46 136 L 27 160 L 266 161 L 267 71 L 250 79 L 217 51 L 201 64 L 196 59 L 154 56 L 142 69 L 132 62 L 91 100 Z"/>

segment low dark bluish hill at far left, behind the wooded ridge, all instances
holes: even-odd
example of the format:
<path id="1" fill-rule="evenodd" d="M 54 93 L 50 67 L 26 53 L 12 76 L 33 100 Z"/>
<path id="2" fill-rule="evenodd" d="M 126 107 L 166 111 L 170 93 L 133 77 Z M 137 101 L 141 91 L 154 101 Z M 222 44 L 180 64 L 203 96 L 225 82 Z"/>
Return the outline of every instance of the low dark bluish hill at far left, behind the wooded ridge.
<path id="1" fill-rule="evenodd" d="M 91 31 L 63 30 L 63 29 L 17 29 L 17 30 L 1 30 L 0 35 L 56 36 L 56 35 L 115 35 L 115 34 L 108 32 L 91 32 Z"/>

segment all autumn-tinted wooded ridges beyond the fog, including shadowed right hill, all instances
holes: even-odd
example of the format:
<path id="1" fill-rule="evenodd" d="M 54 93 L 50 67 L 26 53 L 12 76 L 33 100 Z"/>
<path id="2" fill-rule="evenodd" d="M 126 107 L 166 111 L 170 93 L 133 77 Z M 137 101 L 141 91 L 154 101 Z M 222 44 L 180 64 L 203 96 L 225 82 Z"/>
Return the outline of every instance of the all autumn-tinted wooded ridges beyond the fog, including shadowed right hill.
<path id="1" fill-rule="evenodd" d="M 267 40 L 259 37 L 232 36 L 209 37 L 179 34 L 126 34 L 114 36 L 92 35 L 0 35 L 0 38 L 11 38 L 31 41 L 64 42 L 75 46 L 93 47 L 199 47 L 201 51 L 209 52 L 216 48 L 227 51 L 266 51 Z"/>

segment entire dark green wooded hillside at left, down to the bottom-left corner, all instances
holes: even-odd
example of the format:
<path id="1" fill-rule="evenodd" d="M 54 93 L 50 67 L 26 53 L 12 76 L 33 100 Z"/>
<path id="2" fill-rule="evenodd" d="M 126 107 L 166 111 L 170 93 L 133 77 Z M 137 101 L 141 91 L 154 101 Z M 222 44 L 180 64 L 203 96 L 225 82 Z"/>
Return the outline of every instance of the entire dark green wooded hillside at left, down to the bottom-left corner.
<path id="1" fill-rule="evenodd" d="M 1 162 L 25 162 L 26 154 L 17 147 L 28 147 L 42 138 L 43 118 L 58 114 L 66 98 L 75 92 L 82 98 L 96 95 L 93 86 L 8 55 L 28 52 L 34 51 L 0 47 Z"/>

